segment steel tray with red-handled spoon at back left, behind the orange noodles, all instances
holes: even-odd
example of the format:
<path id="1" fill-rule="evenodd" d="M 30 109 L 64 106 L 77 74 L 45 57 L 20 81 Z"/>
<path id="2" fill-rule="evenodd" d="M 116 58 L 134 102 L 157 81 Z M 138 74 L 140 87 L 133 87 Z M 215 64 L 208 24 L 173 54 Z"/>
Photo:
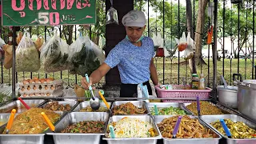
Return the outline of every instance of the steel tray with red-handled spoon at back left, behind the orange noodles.
<path id="1" fill-rule="evenodd" d="M 44 102 L 46 102 L 44 99 L 24 99 L 24 102 L 30 107 L 38 107 L 42 105 Z M 18 111 L 16 113 L 22 113 L 24 110 L 26 110 L 25 106 L 23 106 L 22 102 L 19 100 L 7 103 L 4 106 L 0 107 L 0 113 L 10 113 L 10 110 L 14 109 L 15 107 L 18 107 Z M 22 109 L 20 109 L 22 107 Z"/>

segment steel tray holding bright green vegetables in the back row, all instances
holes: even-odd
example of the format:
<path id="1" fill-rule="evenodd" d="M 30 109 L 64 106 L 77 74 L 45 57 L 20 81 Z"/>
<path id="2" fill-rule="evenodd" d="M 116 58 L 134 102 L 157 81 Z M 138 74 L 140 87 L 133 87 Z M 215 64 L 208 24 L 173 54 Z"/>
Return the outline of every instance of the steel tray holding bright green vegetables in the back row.
<path id="1" fill-rule="evenodd" d="M 150 108 L 154 108 L 154 105 L 156 105 L 158 108 L 166 108 L 166 107 L 179 107 L 182 110 L 184 110 L 186 112 L 187 115 L 192 115 L 192 113 L 186 109 L 184 109 L 184 106 L 182 106 L 182 103 L 178 103 L 178 102 L 149 102 L 146 103 L 147 104 L 147 108 L 151 114 Z"/>

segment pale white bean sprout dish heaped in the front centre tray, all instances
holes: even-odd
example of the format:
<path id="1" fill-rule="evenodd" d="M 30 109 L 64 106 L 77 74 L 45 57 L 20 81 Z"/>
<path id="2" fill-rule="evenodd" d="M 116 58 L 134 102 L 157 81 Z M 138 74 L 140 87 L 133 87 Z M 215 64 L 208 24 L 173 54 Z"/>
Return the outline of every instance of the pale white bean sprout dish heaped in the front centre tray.
<path id="1" fill-rule="evenodd" d="M 150 122 L 142 121 L 138 118 L 122 118 L 118 122 L 112 122 L 114 126 L 115 138 L 149 138 L 156 137 L 157 132 Z M 110 138 L 110 131 L 106 135 Z"/>

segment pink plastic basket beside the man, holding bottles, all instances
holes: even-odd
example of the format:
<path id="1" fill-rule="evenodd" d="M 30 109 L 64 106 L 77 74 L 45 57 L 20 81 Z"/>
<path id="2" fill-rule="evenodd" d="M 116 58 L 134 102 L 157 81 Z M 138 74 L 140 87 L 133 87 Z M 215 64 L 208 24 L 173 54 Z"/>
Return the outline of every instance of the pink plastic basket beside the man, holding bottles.
<path id="1" fill-rule="evenodd" d="M 154 86 L 158 91 L 158 98 L 182 98 L 181 100 L 166 99 L 162 102 L 193 102 L 193 100 L 186 100 L 186 98 L 199 98 L 200 100 L 210 99 L 210 92 L 212 89 L 206 90 L 182 90 L 183 85 L 173 85 L 174 90 L 162 90 L 158 86 Z M 184 100 L 185 98 L 185 100 Z"/>

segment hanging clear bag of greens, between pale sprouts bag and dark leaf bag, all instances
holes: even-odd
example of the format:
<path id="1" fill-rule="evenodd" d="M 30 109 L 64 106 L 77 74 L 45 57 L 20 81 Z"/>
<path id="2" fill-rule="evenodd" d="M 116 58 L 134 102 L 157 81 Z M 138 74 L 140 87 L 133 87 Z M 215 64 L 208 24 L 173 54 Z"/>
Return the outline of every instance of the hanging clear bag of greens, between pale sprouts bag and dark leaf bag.
<path id="1" fill-rule="evenodd" d="M 46 73 L 68 70 L 70 68 L 69 45 L 58 37 L 57 31 L 54 36 L 42 45 L 41 62 Z"/>

